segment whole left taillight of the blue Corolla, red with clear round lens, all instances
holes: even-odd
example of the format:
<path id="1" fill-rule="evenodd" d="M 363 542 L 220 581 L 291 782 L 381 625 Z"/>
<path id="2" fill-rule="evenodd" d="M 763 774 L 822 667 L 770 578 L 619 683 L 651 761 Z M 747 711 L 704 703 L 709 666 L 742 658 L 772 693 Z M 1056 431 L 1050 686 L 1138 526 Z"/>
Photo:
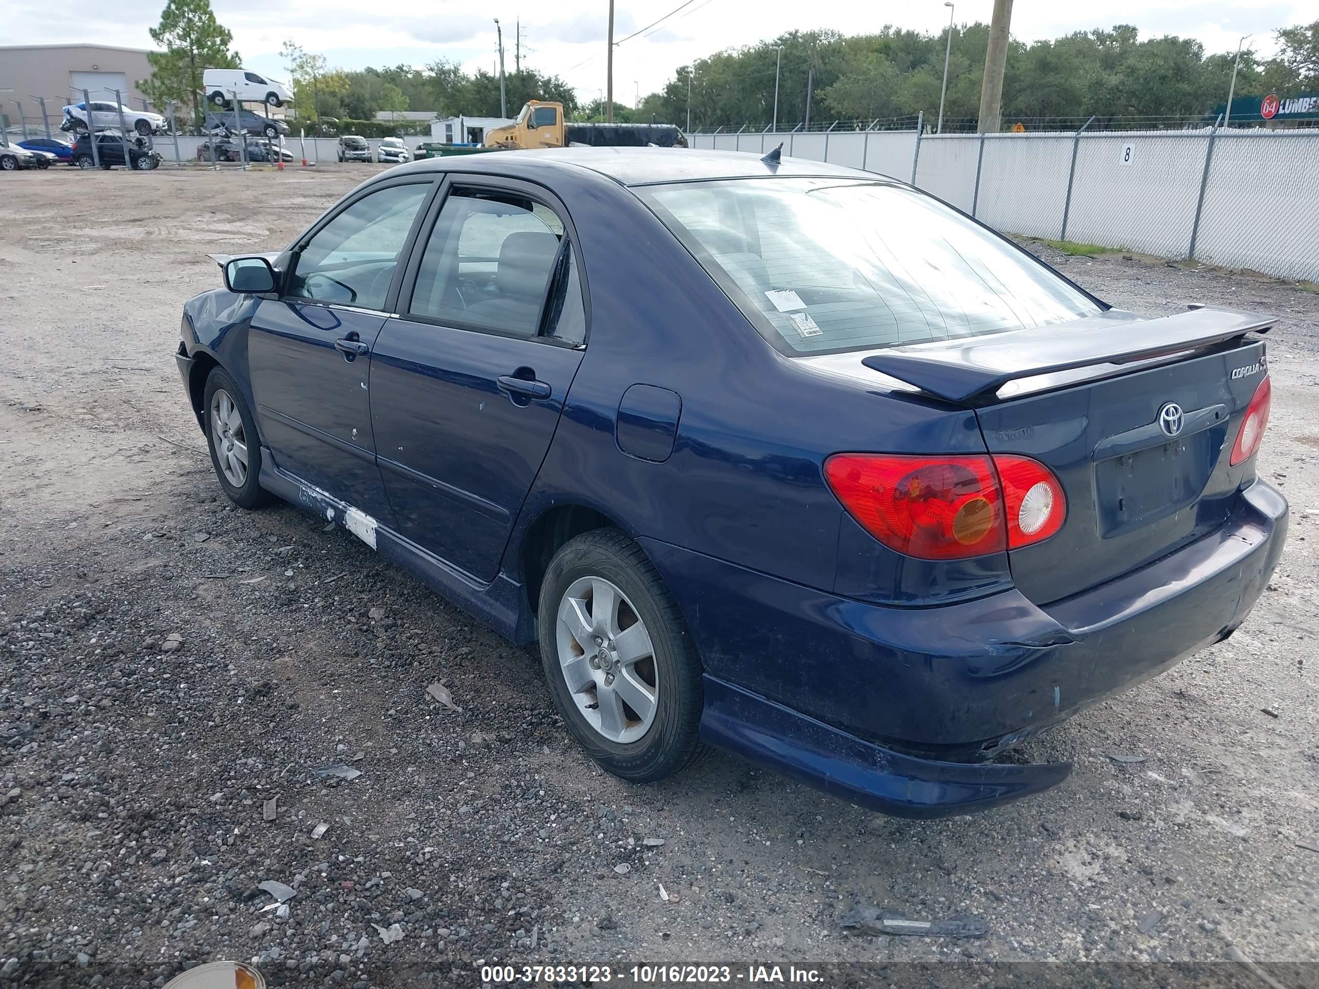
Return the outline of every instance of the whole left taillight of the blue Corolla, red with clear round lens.
<path id="1" fill-rule="evenodd" d="M 1039 542 L 1067 514 L 1058 479 L 1025 456 L 835 454 L 824 462 L 824 480 L 865 531 L 921 559 Z"/>

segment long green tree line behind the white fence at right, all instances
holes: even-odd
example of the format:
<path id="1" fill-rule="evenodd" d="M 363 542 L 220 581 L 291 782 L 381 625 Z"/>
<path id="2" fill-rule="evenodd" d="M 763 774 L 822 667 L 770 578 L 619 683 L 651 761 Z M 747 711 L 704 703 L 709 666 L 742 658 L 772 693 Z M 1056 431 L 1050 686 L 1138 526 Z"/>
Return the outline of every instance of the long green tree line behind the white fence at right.
<path id="1" fill-rule="evenodd" d="M 778 121 L 876 120 L 925 112 L 933 119 L 943 83 L 948 30 L 927 34 L 885 26 L 876 34 L 789 32 L 681 66 L 637 115 L 692 129 L 764 127 Z M 975 127 L 989 25 L 951 28 L 944 125 Z M 1319 92 L 1319 21 L 1277 32 L 1278 54 L 1241 53 L 1236 94 Z M 1138 29 L 1076 32 L 1026 44 L 1013 40 L 1004 75 L 1002 120 L 1039 117 L 1199 117 L 1227 100 L 1235 51 L 1206 54 L 1194 38 L 1141 38 Z M 689 90 L 690 84 L 690 90 Z M 807 94 L 810 107 L 807 108 Z"/>

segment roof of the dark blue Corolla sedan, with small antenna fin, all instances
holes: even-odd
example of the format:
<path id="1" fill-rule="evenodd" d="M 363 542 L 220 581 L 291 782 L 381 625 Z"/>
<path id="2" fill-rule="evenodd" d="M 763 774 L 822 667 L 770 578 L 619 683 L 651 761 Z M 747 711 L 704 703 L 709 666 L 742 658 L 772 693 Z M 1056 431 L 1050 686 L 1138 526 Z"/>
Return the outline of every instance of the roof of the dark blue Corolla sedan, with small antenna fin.
<path id="1" fill-rule="evenodd" d="M 516 156 L 510 161 L 506 156 Z M 714 152 L 694 148 L 545 148 L 497 154 L 422 158 L 404 166 L 418 171 L 508 173 L 509 165 L 524 173 L 539 169 L 584 167 L 624 186 L 661 182 L 706 182 L 720 178 L 839 177 L 893 181 L 886 175 L 806 158 L 783 157 L 777 165 L 747 152 Z"/>

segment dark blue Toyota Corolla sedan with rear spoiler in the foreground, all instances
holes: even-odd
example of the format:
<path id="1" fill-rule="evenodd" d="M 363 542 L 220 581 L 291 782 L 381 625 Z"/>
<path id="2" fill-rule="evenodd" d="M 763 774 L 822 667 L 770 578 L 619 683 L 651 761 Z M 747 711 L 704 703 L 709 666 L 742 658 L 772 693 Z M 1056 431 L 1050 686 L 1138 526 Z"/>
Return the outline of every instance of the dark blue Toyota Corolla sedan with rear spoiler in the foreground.
<path id="1" fill-rule="evenodd" d="M 518 644 L 644 782 L 704 744 L 964 814 L 1001 753 L 1220 641 L 1278 555 L 1269 316 L 1112 309 L 939 200 L 770 154 L 367 181 L 216 256 L 178 367 L 220 487 Z"/>

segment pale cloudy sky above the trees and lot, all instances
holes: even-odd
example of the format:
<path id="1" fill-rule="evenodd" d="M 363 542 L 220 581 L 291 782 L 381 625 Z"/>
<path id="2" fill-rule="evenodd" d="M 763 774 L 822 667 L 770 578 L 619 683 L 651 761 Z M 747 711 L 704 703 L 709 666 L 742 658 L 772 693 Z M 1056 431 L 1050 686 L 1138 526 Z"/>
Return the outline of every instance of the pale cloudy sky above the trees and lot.
<path id="1" fill-rule="evenodd" d="M 616 0 L 615 37 L 623 38 L 669 13 L 682 0 Z M 8 0 L 5 44 L 96 41 L 150 46 L 146 33 L 164 0 Z M 505 67 L 513 67 L 514 24 L 521 18 L 524 58 L 562 75 L 583 99 L 604 86 L 607 0 L 211 0 L 235 36 L 244 65 L 276 78 L 286 75 L 280 46 L 293 38 L 331 65 L 425 65 L 456 59 L 467 69 L 495 63 L 495 24 L 504 26 Z M 1095 13 L 1099 8 L 1104 13 Z M 962 0 L 959 22 L 989 20 L 992 0 Z M 1134 24 L 1142 34 L 1199 38 L 1210 51 L 1235 50 L 1237 38 L 1260 54 L 1274 51 L 1277 28 L 1314 20 L 1314 0 L 1108 0 L 1104 4 L 1017 0 L 1013 34 L 1024 41 L 1072 30 Z M 848 34 L 885 24 L 938 32 L 947 22 L 942 0 L 690 0 L 653 32 L 616 49 L 615 98 L 632 103 L 663 86 L 678 65 L 724 47 L 749 45 L 781 32 L 834 28 Z M 73 30 L 71 25 L 77 25 Z M 3 70 L 3 66 L 0 66 Z"/>

